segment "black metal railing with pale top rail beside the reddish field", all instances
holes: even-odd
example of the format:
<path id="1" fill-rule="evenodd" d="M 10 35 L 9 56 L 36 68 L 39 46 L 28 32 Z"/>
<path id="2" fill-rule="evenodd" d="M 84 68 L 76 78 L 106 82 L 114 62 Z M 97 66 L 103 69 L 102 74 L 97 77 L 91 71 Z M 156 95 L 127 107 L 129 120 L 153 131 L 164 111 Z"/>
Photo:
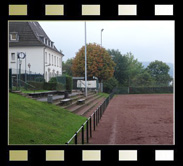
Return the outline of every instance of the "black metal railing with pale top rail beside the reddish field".
<path id="1" fill-rule="evenodd" d="M 109 97 L 93 112 L 92 115 L 83 123 L 79 130 L 72 136 L 72 138 L 66 143 L 81 144 L 89 143 L 89 138 L 92 137 L 92 131 L 95 131 L 104 111 L 106 110 L 109 101 L 113 98 L 114 94 L 110 94 Z M 72 142 L 73 141 L 73 142 Z"/>

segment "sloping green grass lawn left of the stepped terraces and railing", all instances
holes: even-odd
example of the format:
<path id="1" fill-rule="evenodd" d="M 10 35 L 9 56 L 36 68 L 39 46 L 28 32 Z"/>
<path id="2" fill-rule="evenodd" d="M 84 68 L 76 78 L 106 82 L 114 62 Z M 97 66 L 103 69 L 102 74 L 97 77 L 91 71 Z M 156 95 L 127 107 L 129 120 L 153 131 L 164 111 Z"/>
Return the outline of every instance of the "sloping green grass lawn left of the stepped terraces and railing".
<path id="1" fill-rule="evenodd" d="M 86 118 L 9 93 L 9 144 L 65 144 Z"/>

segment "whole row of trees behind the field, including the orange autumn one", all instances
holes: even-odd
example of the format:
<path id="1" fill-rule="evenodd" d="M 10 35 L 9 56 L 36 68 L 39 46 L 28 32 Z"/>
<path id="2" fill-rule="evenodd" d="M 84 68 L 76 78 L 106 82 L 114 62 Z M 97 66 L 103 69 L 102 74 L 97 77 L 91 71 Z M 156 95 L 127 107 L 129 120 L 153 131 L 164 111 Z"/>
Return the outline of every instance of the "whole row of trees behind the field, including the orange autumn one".
<path id="1" fill-rule="evenodd" d="M 75 58 L 62 64 L 63 73 L 70 76 L 84 77 L 85 47 Z M 129 52 L 124 55 L 119 50 L 87 45 L 88 77 L 98 77 L 104 83 L 104 89 L 110 92 L 114 87 L 153 87 L 170 86 L 173 78 L 168 74 L 170 68 L 162 61 L 151 62 L 146 68 Z"/>

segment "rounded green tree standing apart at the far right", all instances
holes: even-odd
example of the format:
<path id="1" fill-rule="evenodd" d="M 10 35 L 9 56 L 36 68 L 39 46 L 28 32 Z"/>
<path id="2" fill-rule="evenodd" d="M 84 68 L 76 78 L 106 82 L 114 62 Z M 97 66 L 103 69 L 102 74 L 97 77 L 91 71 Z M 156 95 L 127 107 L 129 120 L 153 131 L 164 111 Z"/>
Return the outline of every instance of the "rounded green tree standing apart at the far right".
<path id="1" fill-rule="evenodd" d="M 156 81 L 157 86 L 169 86 L 170 81 L 172 81 L 168 74 L 170 67 L 162 61 L 151 62 L 146 69 Z"/>

